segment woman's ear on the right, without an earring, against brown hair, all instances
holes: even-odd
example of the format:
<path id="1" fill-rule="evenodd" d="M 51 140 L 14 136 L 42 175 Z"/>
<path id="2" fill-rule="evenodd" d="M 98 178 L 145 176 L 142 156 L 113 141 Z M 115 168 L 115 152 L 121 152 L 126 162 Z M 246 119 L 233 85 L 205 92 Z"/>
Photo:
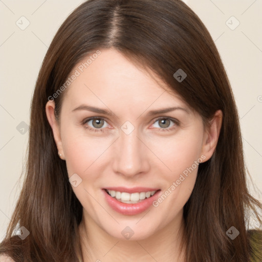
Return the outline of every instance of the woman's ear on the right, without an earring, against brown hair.
<path id="1" fill-rule="evenodd" d="M 206 156 L 205 161 L 209 160 L 213 155 L 217 141 L 219 140 L 222 119 L 222 111 L 217 110 L 214 114 L 214 117 L 210 120 L 210 125 L 205 129 L 202 144 L 202 154 Z"/>

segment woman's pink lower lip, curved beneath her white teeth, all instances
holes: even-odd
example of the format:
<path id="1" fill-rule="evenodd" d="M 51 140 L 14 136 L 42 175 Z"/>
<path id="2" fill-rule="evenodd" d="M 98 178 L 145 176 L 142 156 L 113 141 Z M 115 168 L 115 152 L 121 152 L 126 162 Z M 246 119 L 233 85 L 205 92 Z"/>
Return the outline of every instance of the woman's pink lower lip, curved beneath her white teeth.
<path id="1" fill-rule="evenodd" d="M 114 209 L 115 211 L 123 215 L 136 215 L 136 214 L 140 214 L 144 212 L 146 209 L 148 209 L 152 205 L 152 202 L 157 200 L 161 192 L 161 190 L 159 190 L 154 195 L 152 195 L 152 197 L 148 199 L 144 199 L 143 201 L 137 204 L 126 204 L 126 203 L 122 203 L 116 200 L 115 198 L 112 198 L 111 195 L 107 194 L 105 189 L 103 189 L 102 191 L 104 192 L 105 199 L 108 205 L 110 205 L 112 209 Z"/>

